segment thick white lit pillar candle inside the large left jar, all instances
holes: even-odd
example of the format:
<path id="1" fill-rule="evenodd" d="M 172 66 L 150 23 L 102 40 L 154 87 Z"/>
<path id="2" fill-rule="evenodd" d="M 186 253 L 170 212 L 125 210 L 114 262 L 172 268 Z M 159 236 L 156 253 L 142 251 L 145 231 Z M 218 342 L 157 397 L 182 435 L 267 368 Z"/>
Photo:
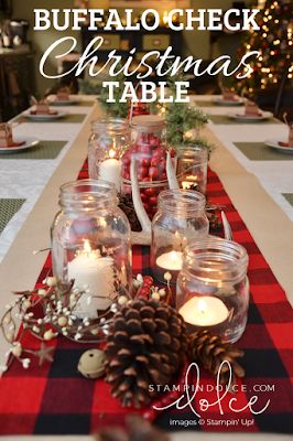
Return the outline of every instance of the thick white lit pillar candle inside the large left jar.
<path id="1" fill-rule="evenodd" d="M 110 306 L 110 295 L 115 292 L 113 259 L 101 257 L 99 250 L 93 250 L 85 240 L 84 249 L 67 265 L 68 280 L 75 280 L 74 287 L 86 291 L 78 300 L 76 315 L 94 319 L 97 310 Z"/>

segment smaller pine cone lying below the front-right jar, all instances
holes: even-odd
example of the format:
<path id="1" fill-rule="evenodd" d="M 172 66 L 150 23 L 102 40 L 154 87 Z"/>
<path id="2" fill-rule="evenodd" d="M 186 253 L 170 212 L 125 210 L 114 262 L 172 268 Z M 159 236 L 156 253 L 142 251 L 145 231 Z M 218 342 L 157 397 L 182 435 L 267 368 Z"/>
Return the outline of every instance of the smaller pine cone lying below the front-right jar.
<path id="1" fill-rule="evenodd" d="M 221 362 L 229 362 L 232 370 L 231 386 L 236 384 L 237 377 L 245 376 L 245 369 L 236 361 L 245 355 L 243 351 L 223 342 L 221 337 L 209 331 L 197 331 L 189 336 L 187 354 L 192 362 L 200 364 L 213 375 L 218 374 Z M 228 380 L 229 367 L 225 365 L 221 368 L 220 384 L 227 385 Z"/>

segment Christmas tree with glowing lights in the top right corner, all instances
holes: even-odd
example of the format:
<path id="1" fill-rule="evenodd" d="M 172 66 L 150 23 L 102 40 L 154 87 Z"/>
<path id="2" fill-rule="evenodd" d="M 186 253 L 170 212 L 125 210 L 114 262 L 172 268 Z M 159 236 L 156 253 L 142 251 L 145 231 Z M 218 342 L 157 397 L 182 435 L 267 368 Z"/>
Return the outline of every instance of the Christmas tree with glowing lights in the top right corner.
<path id="1" fill-rule="evenodd" d="M 241 54 L 259 51 L 251 61 L 253 73 L 239 83 L 239 88 L 253 96 L 259 90 L 278 86 L 293 78 L 293 2 L 292 0 L 267 0 L 259 13 L 259 31 L 251 30 L 245 37 Z"/>

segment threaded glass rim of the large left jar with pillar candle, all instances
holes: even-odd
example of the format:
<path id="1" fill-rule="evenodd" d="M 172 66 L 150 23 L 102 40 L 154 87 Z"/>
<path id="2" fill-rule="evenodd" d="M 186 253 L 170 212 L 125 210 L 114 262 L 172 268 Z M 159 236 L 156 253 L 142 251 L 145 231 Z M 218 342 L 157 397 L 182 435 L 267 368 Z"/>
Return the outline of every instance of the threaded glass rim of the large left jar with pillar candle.
<path id="1" fill-rule="evenodd" d="M 117 205 L 115 184 L 101 180 L 79 180 L 66 182 L 61 186 L 59 205 L 62 208 L 101 209 Z"/>

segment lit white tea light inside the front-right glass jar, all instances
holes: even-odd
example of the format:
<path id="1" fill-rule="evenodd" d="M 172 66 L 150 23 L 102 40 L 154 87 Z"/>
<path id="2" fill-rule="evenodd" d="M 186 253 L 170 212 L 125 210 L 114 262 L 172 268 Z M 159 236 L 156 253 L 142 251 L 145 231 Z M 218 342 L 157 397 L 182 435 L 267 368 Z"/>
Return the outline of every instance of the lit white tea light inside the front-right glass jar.
<path id="1" fill-rule="evenodd" d="M 225 322 L 229 311 L 216 297 L 193 297 L 181 309 L 184 321 L 194 326 L 215 326 Z"/>

